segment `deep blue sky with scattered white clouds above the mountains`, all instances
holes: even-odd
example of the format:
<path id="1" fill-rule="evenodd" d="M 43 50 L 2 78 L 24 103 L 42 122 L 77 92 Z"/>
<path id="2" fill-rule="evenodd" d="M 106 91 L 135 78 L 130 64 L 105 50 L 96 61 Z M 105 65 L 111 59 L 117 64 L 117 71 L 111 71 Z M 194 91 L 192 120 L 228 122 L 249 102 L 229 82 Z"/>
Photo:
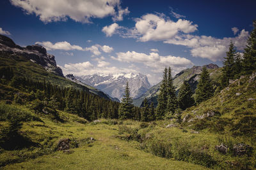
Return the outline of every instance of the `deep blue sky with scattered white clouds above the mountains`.
<path id="1" fill-rule="evenodd" d="M 42 45 L 64 74 L 141 73 L 151 85 L 243 53 L 256 1 L 1 0 L 0 34 Z"/>

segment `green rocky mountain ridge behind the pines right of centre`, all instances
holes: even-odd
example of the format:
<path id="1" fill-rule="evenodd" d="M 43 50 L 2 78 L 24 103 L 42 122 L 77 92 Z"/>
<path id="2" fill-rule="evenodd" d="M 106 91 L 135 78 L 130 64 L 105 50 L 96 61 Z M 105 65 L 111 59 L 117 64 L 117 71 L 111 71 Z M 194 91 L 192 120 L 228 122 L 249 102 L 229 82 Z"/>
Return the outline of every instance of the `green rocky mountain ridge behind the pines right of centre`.
<path id="1" fill-rule="evenodd" d="M 180 71 L 180 73 L 176 74 L 173 77 L 173 85 L 175 86 L 176 93 L 179 92 L 179 89 L 183 83 L 183 81 L 188 81 L 189 85 L 193 92 L 195 92 L 196 85 L 198 83 L 198 79 L 200 77 L 200 73 L 202 72 L 204 66 L 193 66 L 189 69 L 184 69 Z M 209 69 L 210 76 L 220 76 L 220 67 L 216 64 L 207 64 L 205 65 L 207 69 Z M 216 80 L 217 81 L 217 80 Z M 159 88 L 161 86 L 161 82 L 152 86 L 150 89 L 145 92 L 145 94 L 133 100 L 133 104 L 135 106 L 141 106 L 143 99 L 147 97 L 147 99 L 154 103 L 154 106 L 157 105 L 157 97 L 159 94 Z"/>

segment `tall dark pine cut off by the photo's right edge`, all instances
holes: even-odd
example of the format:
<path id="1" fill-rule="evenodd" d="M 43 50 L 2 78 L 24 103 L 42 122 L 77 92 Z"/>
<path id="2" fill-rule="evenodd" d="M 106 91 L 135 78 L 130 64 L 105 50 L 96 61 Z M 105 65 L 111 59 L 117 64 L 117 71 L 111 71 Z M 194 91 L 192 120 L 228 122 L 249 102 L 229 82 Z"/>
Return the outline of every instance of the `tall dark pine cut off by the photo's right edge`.
<path id="1" fill-rule="evenodd" d="M 256 69 L 256 20 L 253 21 L 253 31 L 247 39 L 243 56 L 243 74 L 252 74 Z"/>

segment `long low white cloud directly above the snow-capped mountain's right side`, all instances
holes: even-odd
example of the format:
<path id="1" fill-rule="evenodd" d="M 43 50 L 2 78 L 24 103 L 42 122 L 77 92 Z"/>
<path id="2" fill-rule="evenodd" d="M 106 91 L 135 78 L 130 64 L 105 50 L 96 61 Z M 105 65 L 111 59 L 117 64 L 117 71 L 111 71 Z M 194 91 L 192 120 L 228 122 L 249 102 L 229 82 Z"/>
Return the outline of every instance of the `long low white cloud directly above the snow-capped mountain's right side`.
<path id="1" fill-rule="evenodd" d="M 172 55 L 161 56 L 158 53 L 151 52 L 138 53 L 138 52 L 119 52 L 116 53 L 117 57 L 111 57 L 113 60 L 120 62 L 138 62 L 144 64 L 147 67 L 151 67 L 153 72 L 159 73 L 163 70 L 163 67 L 171 66 L 175 73 L 182 69 L 193 66 L 193 62 L 184 57 L 175 57 Z"/>

